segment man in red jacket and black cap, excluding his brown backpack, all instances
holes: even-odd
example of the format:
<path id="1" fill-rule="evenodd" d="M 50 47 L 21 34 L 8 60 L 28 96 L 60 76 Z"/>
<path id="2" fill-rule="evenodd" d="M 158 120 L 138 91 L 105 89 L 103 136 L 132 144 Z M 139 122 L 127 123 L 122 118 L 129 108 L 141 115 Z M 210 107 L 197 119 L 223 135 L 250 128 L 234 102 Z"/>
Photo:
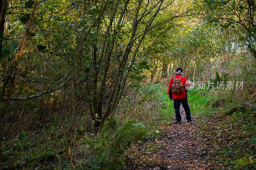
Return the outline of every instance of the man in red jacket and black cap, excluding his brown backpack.
<path id="1" fill-rule="evenodd" d="M 176 79 L 179 79 L 182 76 L 182 69 L 181 68 L 177 68 L 176 70 Z M 180 116 L 180 103 L 182 104 L 185 113 L 186 113 L 186 119 L 187 122 L 190 123 L 191 122 L 191 116 L 190 116 L 190 109 L 188 106 L 188 94 L 187 94 L 187 89 L 185 88 L 185 84 L 187 78 L 186 77 L 181 77 L 181 81 L 183 84 L 183 91 L 180 92 L 179 94 L 176 93 L 172 93 L 172 82 L 174 80 L 174 77 L 172 77 L 170 84 L 169 84 L 169 90 L 168 90 L 168 94 L 169 94 L 169 98 L 170 100 L 173 100 L 173 104 L 174 104 L 174 109 L 175 109 L 175 116 L 176 116 L 176 122 L 177 124 L 181 123 L 181 116 Z M 189 85 L 188 85 L 189 86 Z"/>

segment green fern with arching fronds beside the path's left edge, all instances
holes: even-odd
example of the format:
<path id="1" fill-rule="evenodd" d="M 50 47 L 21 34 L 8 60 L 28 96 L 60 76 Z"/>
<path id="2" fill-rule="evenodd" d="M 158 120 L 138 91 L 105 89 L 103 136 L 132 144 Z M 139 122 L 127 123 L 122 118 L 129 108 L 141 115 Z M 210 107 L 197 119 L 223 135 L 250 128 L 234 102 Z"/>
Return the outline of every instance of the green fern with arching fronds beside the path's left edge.
<path id="1" fill-rule="evenodd" d="M 94 138 L 89 139 L 88 135 L 85 135 L 84 139 L 91 146 L 92 151 L 98 154 L 98 166 L 102 166 L 107 159 L 118 160 L 119 156 L 131 147 L 132 142 L 146 134 L 147 130 L 141 123 L 133 123 L 128 119 L 121 124 L 117 119 L 110 118 Z M 92 165 L 92 162 L 90 164 Z"/>

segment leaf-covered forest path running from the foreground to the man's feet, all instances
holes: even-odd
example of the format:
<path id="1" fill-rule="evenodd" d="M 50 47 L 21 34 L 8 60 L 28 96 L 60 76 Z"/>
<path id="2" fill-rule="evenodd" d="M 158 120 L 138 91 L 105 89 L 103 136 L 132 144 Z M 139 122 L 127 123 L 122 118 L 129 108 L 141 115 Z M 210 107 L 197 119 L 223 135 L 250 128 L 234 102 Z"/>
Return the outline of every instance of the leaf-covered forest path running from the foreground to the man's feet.
<path id="1" fill-rule="evenodd" d="M 161 123 L 159 136 L 152 136 L 132 148 L 127 169 L 211 169 L 211 150 L 207 136 L 199 128 L 199 118 L 191 115 L 187 123 L 185 112 L 180 106 L 181 124 L 175 117 L 169 124 Z M 160 123 L 160 122 L 159 122 Z M 136 152 L 137 151 L 137 152 Z"/>

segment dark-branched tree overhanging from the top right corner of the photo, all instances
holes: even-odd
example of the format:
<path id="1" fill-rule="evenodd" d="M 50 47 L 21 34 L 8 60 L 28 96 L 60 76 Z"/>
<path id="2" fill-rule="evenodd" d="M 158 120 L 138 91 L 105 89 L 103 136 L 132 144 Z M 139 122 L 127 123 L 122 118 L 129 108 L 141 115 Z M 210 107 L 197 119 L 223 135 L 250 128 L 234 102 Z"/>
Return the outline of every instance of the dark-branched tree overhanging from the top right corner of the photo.
<path id="1" fill-rule="evenodd" d="M 204 2 L 205 9 L 209 13 L 209 23 L 220 24 L 225 29 L 232 27 L 256 58 L 255 1 L 204 0 Z"/>

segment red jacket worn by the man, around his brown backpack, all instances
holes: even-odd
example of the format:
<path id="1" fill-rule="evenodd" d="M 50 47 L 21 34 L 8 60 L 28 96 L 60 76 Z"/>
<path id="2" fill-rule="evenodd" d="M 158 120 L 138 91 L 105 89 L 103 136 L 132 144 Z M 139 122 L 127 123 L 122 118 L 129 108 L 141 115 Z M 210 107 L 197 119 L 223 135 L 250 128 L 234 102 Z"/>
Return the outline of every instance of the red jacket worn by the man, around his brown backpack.
<path id="1" fill-rule="evenodd" d="M 176 74 L 175 76 L 176 76 L 177 79 L 181 77 L 180 74 Z M 184 99 L 184 98 L 187 98 L 188 95 L 187 95 L 187 90 L 185 89 L 185 84 L 186 84 L 186 81 L 187 81 L 188 79 L 187 79 L 186 77 L 182 77 L 182 78 L 181 78 L 181 81 L 182 81 L 182 84 L 183 84 L 184 88 L 183 88 L 183 92 L 180 93 L 180 94 L 174 94 L 174 93 L 172 93 L 172 81 L 173 81 L 173 79 L 174 79 L 174 78 L 172 77 L 172 78 L 171 78 L 171 81 L 170 81 L 170 84 L 169 84 L 169 89 L 168 89 L 169 98 L 170 98 L 170 99 Z"/>

